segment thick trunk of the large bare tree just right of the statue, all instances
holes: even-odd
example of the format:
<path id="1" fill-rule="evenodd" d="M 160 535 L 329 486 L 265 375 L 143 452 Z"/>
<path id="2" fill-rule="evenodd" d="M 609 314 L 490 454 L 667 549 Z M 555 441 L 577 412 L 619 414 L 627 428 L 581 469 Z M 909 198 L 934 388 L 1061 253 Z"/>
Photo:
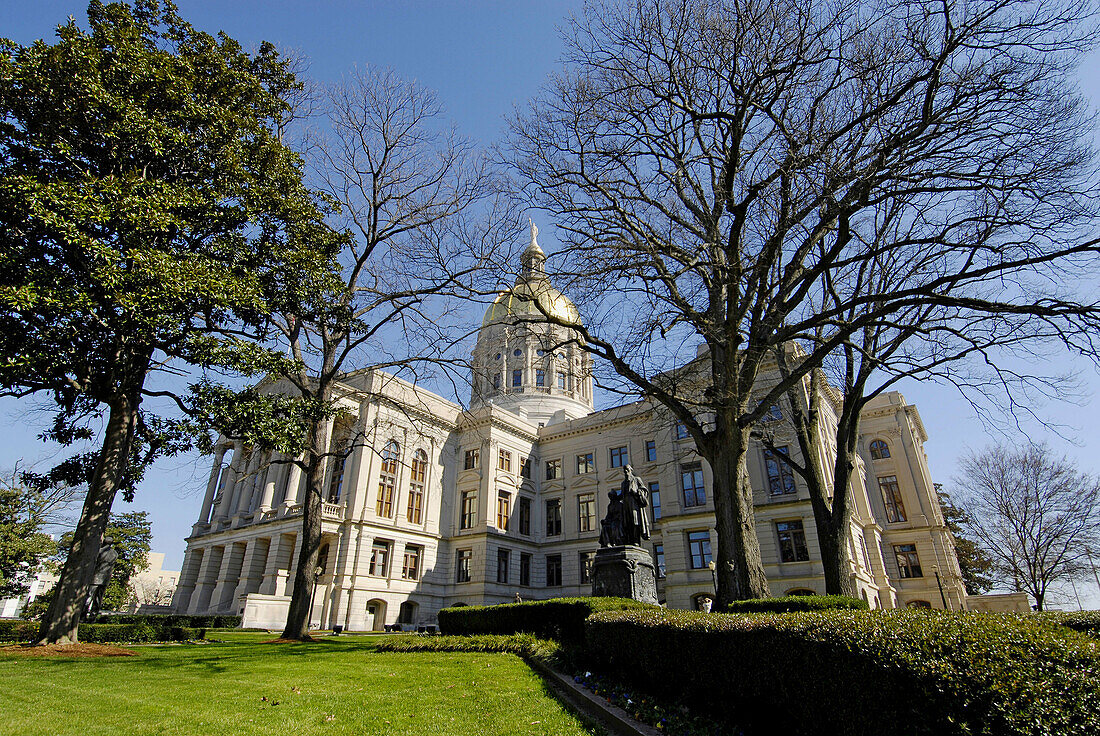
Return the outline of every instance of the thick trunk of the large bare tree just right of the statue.
<path id="1" fill-rule="evenodd" d="M 756 534 L 752 485 L 746 455 L 749 430 L 718 418 L 714 442 L 704 457 L 714 473 L 714 524 L 718 535 L 715 556 L 716 609 L 734 601 L 768 597 L 768 576 L 760 561 Z"/>

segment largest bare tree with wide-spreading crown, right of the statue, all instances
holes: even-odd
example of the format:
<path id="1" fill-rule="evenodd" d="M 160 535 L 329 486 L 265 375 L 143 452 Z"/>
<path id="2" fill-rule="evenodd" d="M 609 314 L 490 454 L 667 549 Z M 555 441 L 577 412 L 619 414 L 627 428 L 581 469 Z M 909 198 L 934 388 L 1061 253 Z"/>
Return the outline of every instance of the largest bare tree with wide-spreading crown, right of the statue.
<path id="1" fill-rule="evenodd" d="M 565 72 L 513 125 L 515 167 L 566 240 L 586 348 L 714 472 L 719 606 L 768 594 L 746 453 L 771 405 L 901 309 L 965 308 L 1093 250 L 1077 232 L 1087 119 L 1066 94 L 1086 9 L 636 0 L 573 22 Z M 912 238 L 876 237 L 889 202 Z M 902 251 L 924 266 L 827 298 Z M 802 356 L 760 396 L 791 342 Z"/>

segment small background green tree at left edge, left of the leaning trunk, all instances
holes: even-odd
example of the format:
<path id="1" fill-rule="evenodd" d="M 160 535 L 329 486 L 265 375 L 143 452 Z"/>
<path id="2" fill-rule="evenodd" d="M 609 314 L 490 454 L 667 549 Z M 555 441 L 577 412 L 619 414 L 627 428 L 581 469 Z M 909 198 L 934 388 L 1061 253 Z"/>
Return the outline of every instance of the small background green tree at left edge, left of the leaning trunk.
<path id="1" fill-rule="evenodd" d="M 41 530 L 34 498 L 24 487 L 0 487 L 0 598 L 26 593 L 34 573 L 55 549 L 54 540 Z"/>

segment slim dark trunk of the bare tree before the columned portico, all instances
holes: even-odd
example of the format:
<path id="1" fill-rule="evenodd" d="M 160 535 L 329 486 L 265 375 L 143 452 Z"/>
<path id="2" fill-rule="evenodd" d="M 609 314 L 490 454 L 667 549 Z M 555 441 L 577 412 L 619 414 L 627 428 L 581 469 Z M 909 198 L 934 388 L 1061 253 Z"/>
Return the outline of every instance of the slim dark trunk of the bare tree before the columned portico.
<path id="1" fill-rule="evenodd" d="M 312 422 L 309 428 L 309 460 L 306 472 L 306 503 L 301 513 L 301 550 L 294 572 L 294 592 L 290 594 L 290 609 L 286 616 L 284 639 L 308 641 L 309 618 L 314 585 L 317 576 L 315 569 L 321 549 L 321 508 L 322 484 L 324 482 L 324 460 L 329 448 L 328 426 L 331 419 L 323 417 Z"/>

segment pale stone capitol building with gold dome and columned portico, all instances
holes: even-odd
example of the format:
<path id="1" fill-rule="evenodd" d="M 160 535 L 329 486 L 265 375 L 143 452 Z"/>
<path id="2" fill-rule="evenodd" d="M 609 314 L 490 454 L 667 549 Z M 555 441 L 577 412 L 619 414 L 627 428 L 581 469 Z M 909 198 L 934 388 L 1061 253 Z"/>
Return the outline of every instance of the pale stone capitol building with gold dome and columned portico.
<path id="1" fill-rule="evenodd" d="M 627 463 L 650 491 L 658 597 L 669 607 L 710 606 L 710 468 L 653 402 L 594 410 L 591 358 L 568 328 L 540 319 L 580 315 L 547 278 L 534 232 L 515 286 L 485 312 L 469 409 L 376 370 L 341 385 L 312 626 L 413 627 L 435 623 L 446 606 L 591 594 L 607 492 Z M 277 380 L 264 389 L 290 392 Z M 824 391 L 828 437 L 839 397 Z M 772 427 L 799 457 L 782 415 L 772 407 Z M 873 608 L 968 607 L 916 407 L 884 393 L 864 410 L 861 428 L 848 550 L 859 595 Z M 306 491 L 301 471 L 279 460 L 221 443 L 187 538 L 177 612 L 239 613 L 244 626 L 283 627 Z M 816 461 L 829 476 L 832 459 Z M 749 473 L 771 593 L 823 594 L 806 488 L 759 446 Z"/>

